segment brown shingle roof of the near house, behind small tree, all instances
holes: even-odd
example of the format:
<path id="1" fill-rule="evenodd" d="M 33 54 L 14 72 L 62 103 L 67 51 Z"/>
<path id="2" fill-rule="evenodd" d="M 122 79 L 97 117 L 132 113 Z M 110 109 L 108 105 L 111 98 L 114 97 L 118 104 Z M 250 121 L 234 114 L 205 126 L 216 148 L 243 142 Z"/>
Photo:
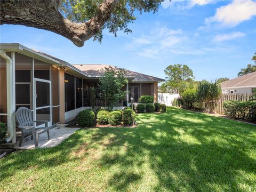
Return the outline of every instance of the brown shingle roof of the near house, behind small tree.
<path id="1" fill-rule="evenodd" d="M 104 69 L 105 67 L 108 67 L 109 65 L 103 65 L 103 64 L 79 65 L 79 64 L 77 64 L 77 65 L 73 65 L 73 66 L 84 71 L 84 73 L 88 74 L 90 77 L 100 77 L 100 76 L 102 76 L 101 69 Z M 135 71 L 126 70 L 126 69 L 125 69 L 125 71 L 126 71 L 126 77 L 134 77 L 132 82 L 144 82 L 144 81 L 162 82 L 162 81 L 165 81 L 165 79 L 137 73 Z"/>

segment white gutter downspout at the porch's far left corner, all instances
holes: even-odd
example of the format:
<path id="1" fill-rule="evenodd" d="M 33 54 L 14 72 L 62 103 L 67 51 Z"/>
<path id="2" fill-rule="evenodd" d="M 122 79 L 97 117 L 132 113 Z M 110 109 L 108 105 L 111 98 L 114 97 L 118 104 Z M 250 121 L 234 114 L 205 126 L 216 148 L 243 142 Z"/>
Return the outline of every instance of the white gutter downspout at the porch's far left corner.
<path id="1" fill-rule="evenodd" d="M 8 137 L 6 142 L 12 141 L 16 142 L 15 138 L 15 119 L 13 118 L 15 114 L 15 64 L 13 60 L 6 54 L 4 50 L 0 50 L 0 55 L 6 60 L 6 96 L 7 96 L 7 132 Z M 14 59 L 14 53 L 12 53 L 12 58 Z M 13 72 L 14 71 L 14 72 Z M 13 79 L 14 78 L 14 79 Z M 13 82 L 14 81 L 14 82 Z"/>

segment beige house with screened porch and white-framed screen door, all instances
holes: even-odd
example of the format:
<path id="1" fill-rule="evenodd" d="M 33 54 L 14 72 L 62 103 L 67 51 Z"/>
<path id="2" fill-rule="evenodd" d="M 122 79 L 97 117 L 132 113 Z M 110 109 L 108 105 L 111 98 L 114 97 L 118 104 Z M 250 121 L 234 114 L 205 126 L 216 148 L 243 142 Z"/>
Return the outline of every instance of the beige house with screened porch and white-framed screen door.
<path id="1" fill-rule="evenodd" d="M 64 124 L 90 107 L 101 106 L 96 87 L 100 69 L 107 65 L 71 65 L 21 44 L 0 44 L 0 121 L 7 124 L 7 142 L 16 142 L 15 111 L 27 107 L 35 120 L 48 120 L 49 126 Z M 128 90 L 119 107 L 129 106 L 143 94 L 154 95 L 164 79 L 127 71 Z M 41 126 L 37 124 L 37 126 Z"/>

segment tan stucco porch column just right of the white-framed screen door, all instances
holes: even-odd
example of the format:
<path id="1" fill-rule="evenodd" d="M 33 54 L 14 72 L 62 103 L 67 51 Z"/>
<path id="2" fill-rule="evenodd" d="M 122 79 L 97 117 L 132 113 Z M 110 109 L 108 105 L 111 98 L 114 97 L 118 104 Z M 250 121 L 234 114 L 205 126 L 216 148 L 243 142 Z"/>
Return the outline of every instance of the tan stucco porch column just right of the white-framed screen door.
<path id="1" fill-rule="evenodd" d="M 59 85 L 60 85 L 60 124 L 65 123 L 65 73 L 64 69 L 60 69 Z"/>

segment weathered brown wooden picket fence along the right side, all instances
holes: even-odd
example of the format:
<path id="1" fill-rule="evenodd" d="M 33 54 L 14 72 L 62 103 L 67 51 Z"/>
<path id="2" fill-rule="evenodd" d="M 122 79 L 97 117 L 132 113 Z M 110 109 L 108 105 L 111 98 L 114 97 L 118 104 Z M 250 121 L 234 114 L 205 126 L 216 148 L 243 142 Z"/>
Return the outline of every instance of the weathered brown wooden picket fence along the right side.
<path id="1" fill-rule="evenodd" d="M 225 101 L 249 101 L 250 98 L 256 99 L 256 94 L 255 93 L 243 93 L 243 94 L 221 94 L 220 99 L 218 100 L 213 100 L 211 103 L 211 106 L 215 113 L 218 114 L 224 114 L 223 110 L 223 103 Z M 205 103 L 204 102 L 194 102 L 193 107 L 197 109 L 204 109 L 205 108 Z"/>

